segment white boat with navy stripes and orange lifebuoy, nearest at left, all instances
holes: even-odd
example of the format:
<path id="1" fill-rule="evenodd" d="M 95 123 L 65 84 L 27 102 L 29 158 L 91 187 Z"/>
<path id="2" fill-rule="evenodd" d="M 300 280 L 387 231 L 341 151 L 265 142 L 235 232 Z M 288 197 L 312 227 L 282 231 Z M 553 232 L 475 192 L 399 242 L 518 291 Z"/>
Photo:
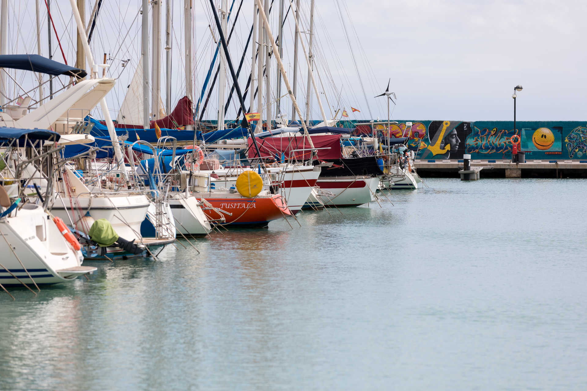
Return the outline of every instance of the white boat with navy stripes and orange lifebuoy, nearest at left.
<path id="1" fill-rule="evenodd" d="M 44 142 L 58 141 L 60 135 L 49 130 L 0 127 L 0 285 L 41 285 L 70 281 L 93 273 L 95 267 L 82 266 L 79 242 L 63 221 L 49 215 L 43 205 L 32 202 L 26 193 L 29 186 L 39 199 L 52 192 L 44 191 L 37 181 L 19 174 L 33 167 L 42 170 Z M 26 153 L 22 153 L 23 150 Z M 29 158 L 33 156 L 33 158 Z M 21 180 L 17 180 L 21 179 Z"/>

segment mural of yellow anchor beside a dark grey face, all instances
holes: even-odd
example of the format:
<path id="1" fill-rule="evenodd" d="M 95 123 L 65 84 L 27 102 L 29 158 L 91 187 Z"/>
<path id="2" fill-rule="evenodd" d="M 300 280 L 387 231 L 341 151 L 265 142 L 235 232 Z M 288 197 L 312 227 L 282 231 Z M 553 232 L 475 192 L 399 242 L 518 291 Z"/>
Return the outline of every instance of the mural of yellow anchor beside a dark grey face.
<path id="1" fill-rule="evenodd" d="M 460 159 L 471 124 L 461 121 L 432 121 L 428 127 L 430 144 L 424 149 L 424 159 Z"/>

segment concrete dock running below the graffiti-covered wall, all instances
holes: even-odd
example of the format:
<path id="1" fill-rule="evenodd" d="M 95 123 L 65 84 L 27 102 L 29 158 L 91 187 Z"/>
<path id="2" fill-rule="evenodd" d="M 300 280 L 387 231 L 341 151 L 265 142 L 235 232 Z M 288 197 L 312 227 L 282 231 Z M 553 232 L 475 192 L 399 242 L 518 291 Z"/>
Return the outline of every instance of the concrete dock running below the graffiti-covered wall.
<path id="1" fill-rule="evenodd" d="M 423 178 L 458 178 L 463 169 L 463 160 L 414 161 L 418 175 Z M 525 163 L 512 163 L 510 160 L 472 160 L 471 166 L 491 166 L 483 170 L 483 178 L 587 178 L 587 160 L 530 160 Z"/>

